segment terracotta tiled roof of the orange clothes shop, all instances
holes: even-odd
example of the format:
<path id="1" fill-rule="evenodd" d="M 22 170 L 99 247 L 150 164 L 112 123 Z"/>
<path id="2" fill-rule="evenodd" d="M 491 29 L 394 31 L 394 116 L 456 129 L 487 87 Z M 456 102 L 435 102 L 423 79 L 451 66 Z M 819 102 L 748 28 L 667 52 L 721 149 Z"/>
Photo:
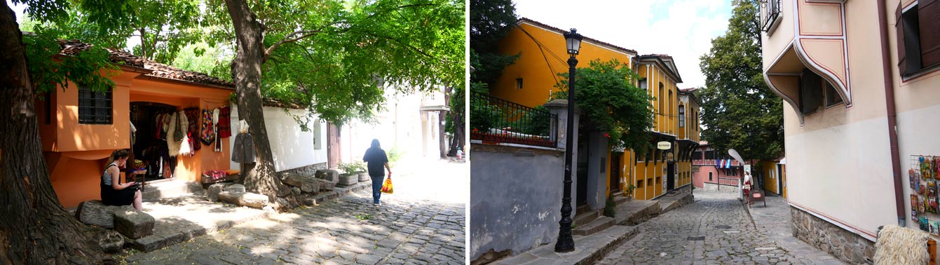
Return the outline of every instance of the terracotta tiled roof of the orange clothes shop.
<path id="1" fill-rule="evenodd" d="M 62 46 L 62 51 L 59 52 L 63 55 L 77 55 L 79 53 L 87 51 L 93 45 L 82 42 L 78 39 L 60 39 L 59 45 Z M 172 66 L 164 65 L 155 61 L 148 60 L 146 58 L 132 55 L 131 53 L 124 52 L 118 49 L 105 48 L 111 55 L 108 57 L 112 62 L 123 64 L 125 66 L 131 66 L 136 68 L 142 68 L 147 70 L 152 70 L 153 72 L 146 74 L 149 76 L 163 77 L 169 79 L 176 79 L 181 81 L 194 82 L 198 84 L 214 85 L 214 86 L 226 86 L 229 88 L 235 88 L 235 84 L 211 77 L 208 74 L 192 71 L 192 70 L 181 70 Z"/>

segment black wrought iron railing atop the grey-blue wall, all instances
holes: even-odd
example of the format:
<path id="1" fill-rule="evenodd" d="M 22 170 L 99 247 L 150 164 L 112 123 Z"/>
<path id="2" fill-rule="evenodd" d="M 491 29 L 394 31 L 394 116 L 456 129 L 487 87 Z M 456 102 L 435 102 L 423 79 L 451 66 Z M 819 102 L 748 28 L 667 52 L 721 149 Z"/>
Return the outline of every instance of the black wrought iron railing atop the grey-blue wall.
<path id="1" fill-rule="evenodd" d="M 470 139 L 538 147 L 556 147 L 558 117 L 540 108 L 470 94 Z"/>

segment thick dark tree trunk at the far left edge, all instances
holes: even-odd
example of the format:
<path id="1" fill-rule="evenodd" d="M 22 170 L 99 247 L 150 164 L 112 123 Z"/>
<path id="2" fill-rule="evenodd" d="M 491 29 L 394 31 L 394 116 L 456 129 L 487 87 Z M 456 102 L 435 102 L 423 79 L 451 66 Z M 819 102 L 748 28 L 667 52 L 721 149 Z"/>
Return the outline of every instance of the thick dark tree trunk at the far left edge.
<path id="1" fill-rule="evenodd" d="M 95 233 L 62 209 L 49 181 L 16 16 L 0 8 L 0 263 L 98 263 Z"/>

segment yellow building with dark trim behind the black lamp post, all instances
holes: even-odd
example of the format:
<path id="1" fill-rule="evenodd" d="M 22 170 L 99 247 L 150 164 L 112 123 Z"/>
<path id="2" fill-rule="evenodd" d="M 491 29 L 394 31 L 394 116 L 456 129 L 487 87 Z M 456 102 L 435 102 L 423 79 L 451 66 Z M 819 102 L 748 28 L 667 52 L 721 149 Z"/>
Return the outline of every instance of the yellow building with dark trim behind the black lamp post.
<path id="1" fill-rule="evenodd" d="M 565 50 L 565 39 L 562 36 L 565 30 L 529 19 L 521 19 L 517 26 L 498 43 L 500 53 L 504 55 L 519 55 L 514 64 L 503 70 L 503 74 L 490 86 L 493 97 L 514 101 L 525 106 L 535 107 L 551 99 L 556 92 L 556 83 L 560 80 L 559 72 L 567 72 L 568 64 Z M 588 157 L 600 160 L 603 165 L 599 172 L 600 179 L 606 179 L 604 189 L 588 190 L 587 193 L 597 192 L 597 196 L 606 196 L 611 193 L 624 193 L 627 188 L 635 185 L 635 198 L 652 199 L 664 195 L 668 190 L 682 188 L 692 183 L 691 153 L 698 142 L 698 104 L 690 91 L 678 89 L 677 84 L 682 83 L 682 77 L 676 69 L 673 58 L 669 55 L 637 55 L 635 50 L 626 49 L 617 45 L 592 39 L 587 36 L 581 43 L 581 50 L 577 55 L 578 67 L 585 67 L 591 60 L 601 59 L 608 61 L 617 59 L 627 67 L 633 69 L 640 76 L 636 86 L 647 89 L 650 96 L 655 97 L 650 105 L 656 114 L 653 124 L 652 147 L 657 142 L 671 143 L 671 149 L 660 150 L 651 148 L 645 157 L 636 156 L 632 150 L 612 149 L 602 139 L 603 152 L 590 155 L 585 148 L 593 148 L 597 138 L 595 134 L 584 133 L 579 139 L 579 179 L 583 170 L 587 170 L 585 161 Z M 587 137 L 586 137 L 587 136 Z M 592 137 L 593 136 L 593 137 Z M 596 168 L 596 167 L 592 167 Z M 575 193 L 582 195 L 586 191 L 582 187 L 584 180 L 577 184 L 581 191 Z M 593 184 L 591 187 L 595 187 Z M 594 195 L 594 194 L 592 194 Z M 578 206 L 585 205 L 583 198 L 578 198 Z"/>

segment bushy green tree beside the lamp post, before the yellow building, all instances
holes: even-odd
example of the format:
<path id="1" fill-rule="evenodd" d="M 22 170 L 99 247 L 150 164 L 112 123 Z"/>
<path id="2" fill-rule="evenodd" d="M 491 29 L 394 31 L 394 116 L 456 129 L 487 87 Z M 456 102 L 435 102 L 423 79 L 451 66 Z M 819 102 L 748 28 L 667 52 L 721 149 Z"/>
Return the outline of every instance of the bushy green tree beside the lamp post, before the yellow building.
<path id="1" fill-rule="evenodd" d="M 554 99 L 568 99 L 568 72 L 559 72 Z M 586 124 L 610 136 L 611 145 L 645 152 L 650 148 L 653 98 L 634 86 L 639 78 L 617 59 L 595 59 L 578 68 L 574 80 L 575 106 Z"/>

